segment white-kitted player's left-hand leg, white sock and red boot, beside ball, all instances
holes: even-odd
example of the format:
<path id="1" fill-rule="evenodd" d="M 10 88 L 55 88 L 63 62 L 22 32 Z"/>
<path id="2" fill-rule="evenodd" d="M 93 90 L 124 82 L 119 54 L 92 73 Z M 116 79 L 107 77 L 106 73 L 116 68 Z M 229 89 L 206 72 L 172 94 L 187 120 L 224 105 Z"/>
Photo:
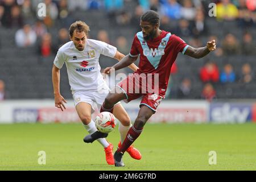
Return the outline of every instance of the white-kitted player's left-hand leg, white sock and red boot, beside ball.
<path id="1" fill-rule="evenodd" d="M 97 129 L 91 118 L 92 106 L 86 102 L 79 102 L 79 104 L 76 105 L 76 111 L 88 133 L 95 133 Z M 104 138 L 107 136 L 108 135 L 102 135 L 99 139 L 97 139 L 97 141 L 104 147 L 106 162 L 110 165 L 113 165 L 113 145 L 111 143 L 108 143 L 107 140 Z"/>

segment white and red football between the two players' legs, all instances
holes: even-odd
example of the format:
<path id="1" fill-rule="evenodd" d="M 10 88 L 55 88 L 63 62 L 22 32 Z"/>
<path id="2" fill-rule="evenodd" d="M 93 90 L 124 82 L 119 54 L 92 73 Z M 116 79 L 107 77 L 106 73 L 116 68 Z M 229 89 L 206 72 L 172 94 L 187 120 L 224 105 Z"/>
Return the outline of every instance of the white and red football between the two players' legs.
<path id="1" fill-rule="evenodd" d="M 95 126 L 102 133 L 110 133 L 114 130 L 116 124 L 114 115 L 109 112 L 102 112 L 95 119 Z"/>

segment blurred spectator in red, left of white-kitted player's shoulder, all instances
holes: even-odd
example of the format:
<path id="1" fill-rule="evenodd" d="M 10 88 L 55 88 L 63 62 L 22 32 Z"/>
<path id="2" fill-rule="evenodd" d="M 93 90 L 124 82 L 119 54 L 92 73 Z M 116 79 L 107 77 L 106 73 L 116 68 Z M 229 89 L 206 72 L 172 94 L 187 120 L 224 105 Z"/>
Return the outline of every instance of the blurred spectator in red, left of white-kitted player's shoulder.
<path id="1" fill-rule="evenodd" d="M 40 55 L 43 57 L 48 57 L 51 55 L 52 50 L 54 49 L 52 46 L 52 36 L 49 33 L 46 33 L 42 36 L 42 40 L 40 42 Z"/>

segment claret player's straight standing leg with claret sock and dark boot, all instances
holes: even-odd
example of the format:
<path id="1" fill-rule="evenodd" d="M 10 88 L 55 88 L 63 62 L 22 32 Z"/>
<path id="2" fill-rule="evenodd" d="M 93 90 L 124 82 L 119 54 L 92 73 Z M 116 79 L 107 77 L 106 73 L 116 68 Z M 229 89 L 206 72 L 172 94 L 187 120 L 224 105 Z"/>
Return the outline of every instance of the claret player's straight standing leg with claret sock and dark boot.
<path id="1" fill-rule="evenodd" d="M 125 166 L 122 161 L 123 153 L 131 146 L 131 144 L 139 137 L 142 133 L 143 126 L 146 124 L 148 119 L 155 113 L 154 110 L 150 109 L 146 105 L 141 105 L 139 114 L 133 124 L 129 129 L 125 140 L 122 143 L 122 146 L 114 154 L 115 166 L 123 167 Z"/>

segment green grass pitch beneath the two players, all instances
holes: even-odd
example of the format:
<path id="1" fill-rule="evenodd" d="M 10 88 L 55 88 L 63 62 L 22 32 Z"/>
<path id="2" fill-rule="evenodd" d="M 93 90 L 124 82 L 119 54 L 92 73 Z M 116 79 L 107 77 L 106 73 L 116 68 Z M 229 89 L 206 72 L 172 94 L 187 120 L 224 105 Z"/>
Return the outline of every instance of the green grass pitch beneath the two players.
<path id="1" fill-rule="evenodd" d="M 98 142 L 86 144 L 81 124 L 0 125 L 1 170 L 256 170 L 256 125 L 147 124 L 135 141 L 141 160 L 125 153 L 126 167 L 105 162 Z M 117 147 L 118 130 L 108 140 Z M 46 152 L 46 165 L 38 152 Z M 209 151 L 217 164 L 209 165 Z"/>

